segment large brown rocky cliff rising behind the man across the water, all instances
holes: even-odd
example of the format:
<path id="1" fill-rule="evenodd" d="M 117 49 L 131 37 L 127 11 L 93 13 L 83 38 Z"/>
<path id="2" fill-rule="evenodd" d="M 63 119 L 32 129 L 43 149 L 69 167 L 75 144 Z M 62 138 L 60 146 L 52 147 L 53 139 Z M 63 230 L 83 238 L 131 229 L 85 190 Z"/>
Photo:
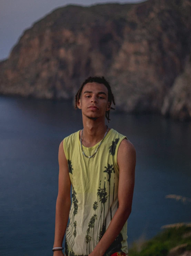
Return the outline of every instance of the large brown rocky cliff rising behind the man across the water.
<path id="1" fill-rule="evenodd" d="M 26 30 L 0 62 L 0 94 L 72 98 L 104 76 L 116 108 L 191 120 L 191 0 L 66 6 Z"/>

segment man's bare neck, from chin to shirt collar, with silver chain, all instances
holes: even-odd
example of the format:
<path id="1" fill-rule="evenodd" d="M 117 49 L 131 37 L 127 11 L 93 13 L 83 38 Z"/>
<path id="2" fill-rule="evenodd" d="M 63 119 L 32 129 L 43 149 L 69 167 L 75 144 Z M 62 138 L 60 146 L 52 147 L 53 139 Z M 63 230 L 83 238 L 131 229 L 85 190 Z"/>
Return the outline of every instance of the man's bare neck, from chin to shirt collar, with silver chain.
<path id="1" fill-rule="evenodd" d="M 101 120 L 99 120 L 99 118 L 97 120 L 92 120 L 83 117 L 83 145 L 85 140 L 86 147 L 93 147 L 103 139 L 106 130 L 107 126 L 105 125 L 105 118 Z"/>

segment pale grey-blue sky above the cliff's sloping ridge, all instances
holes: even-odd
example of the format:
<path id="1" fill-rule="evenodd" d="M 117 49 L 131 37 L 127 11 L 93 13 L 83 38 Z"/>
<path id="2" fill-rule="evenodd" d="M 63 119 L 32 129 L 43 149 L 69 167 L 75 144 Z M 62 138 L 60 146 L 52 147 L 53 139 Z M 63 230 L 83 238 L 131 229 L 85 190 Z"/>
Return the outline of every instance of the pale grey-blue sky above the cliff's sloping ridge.
<path id="1" fill-rule="evenodd" d="M 143 0 L 0 0 L 0 60 L 7 59 L 24 30 L 52 10 L 69 4 L 138 3 Z"/>

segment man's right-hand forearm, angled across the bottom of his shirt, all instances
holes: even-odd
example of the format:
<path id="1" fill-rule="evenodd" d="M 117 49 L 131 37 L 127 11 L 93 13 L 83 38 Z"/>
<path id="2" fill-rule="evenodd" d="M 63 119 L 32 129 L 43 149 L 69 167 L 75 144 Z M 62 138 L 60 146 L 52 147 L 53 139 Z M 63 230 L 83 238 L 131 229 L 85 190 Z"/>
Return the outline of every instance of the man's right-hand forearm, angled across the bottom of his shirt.
<path id="1" fill-rule="evenodd" d="M 93 250 L 93 255 L 95 254 L 97 256 L 102 256 L 105 253 L 105 251 L 109 248 L 115 238 L 119 235 L 125 222 L 129 218 L 130 213 L 130 210 L 127 211 L 125 209 L 118 208 L 103 237 Z"/>

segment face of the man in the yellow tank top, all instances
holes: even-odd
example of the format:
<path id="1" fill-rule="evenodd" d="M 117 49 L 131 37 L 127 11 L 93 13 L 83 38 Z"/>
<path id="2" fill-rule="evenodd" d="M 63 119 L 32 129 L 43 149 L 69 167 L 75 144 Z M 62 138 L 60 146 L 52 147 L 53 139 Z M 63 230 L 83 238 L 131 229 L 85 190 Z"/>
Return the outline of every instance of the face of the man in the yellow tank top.
<path id="1" fill-rule="evenodd" d="M 87 83 L 82 89 L 77 106 L 90 119 L 105 117 L 105 111 L 110 109 L 107 87 L 100 83 Z"/>

